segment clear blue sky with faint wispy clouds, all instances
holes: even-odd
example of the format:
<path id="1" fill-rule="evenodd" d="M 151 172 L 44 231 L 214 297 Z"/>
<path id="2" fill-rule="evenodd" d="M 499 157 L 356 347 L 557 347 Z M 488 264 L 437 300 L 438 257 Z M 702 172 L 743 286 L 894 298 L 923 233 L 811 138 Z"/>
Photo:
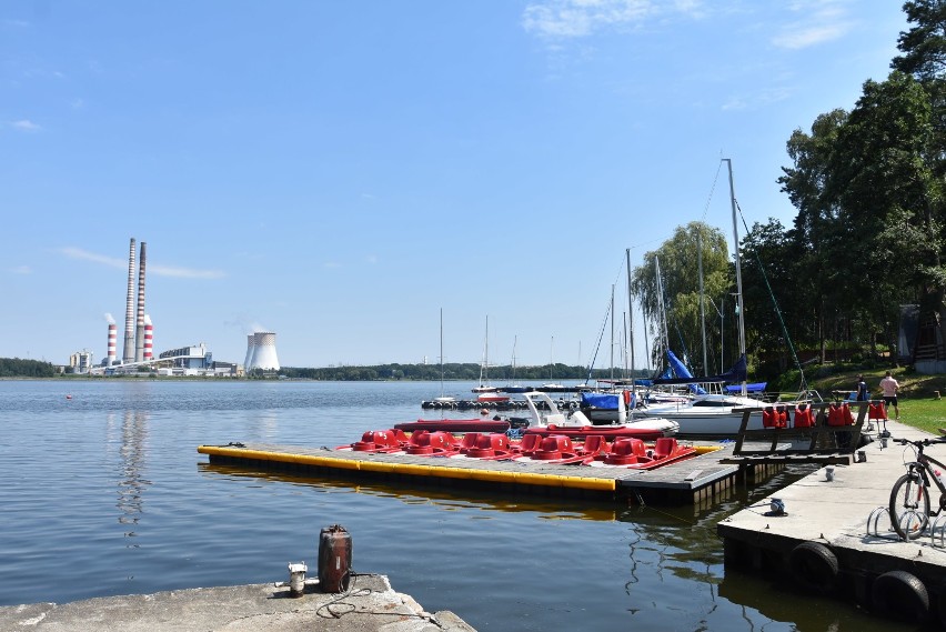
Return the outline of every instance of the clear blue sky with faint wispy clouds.
<path id="1" fill-rule="evenodd" d="M 491 363 L 587 364 L 625 249 L 732 241 L 721 158 L 791 224 L 785 142 L 886 78 L 900 4 L 3 2 L 0 357 L 99 360 L 109 313 L 121 355 L 134 237 L 157 351 L 437 362 L 442 309 L 446 361 L 489 317 Z"/>

